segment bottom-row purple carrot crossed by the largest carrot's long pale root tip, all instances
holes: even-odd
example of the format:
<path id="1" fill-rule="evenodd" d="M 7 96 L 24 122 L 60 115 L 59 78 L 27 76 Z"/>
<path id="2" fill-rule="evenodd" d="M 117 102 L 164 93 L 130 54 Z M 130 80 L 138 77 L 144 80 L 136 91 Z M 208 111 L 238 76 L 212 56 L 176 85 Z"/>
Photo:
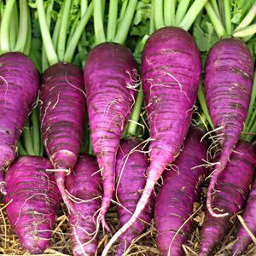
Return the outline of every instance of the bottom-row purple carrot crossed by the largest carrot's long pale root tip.
<path id="1" fill-rule="evenodd" d="M 125 137 L 121 141 L 118 150 L 116 161 L 116 197 L 117 201 L 123 206 L 117 207 L 120 227 L 131 218 L 131 213 L 127 212 L 125 208 L 130 212 L 134 212 L 137 201 L 139 201 L 146 183 L 145 173 L 148 169 L 148 155 L 142 153 L 144 146 L 142 142 L 143 141 L 137 137 Z M 134 151 L 129 154 L 132 149 L 139 150 L 140 152 Z M 140 215 L 140 218 L 146 223 L 149 223 L 152 218 L 153 204 L 154 197 L 151 196 L 147 207 L 145 207 L 143 213 Z M 131 241 L 143 233 L 143 230 L 147 226 L 146 223 L 137 220 L 129 230 L 126 230 L 126 232 L 119 237 L 117 256 L 123 255 L 125 250 L 130 246 Z"/>

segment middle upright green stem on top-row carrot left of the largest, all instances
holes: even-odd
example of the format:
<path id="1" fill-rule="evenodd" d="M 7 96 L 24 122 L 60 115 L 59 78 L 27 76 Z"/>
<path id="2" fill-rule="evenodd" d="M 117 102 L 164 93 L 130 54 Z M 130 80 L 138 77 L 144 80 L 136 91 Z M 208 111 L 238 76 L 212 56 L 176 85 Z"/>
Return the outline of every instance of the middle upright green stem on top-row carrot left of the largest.
<path id="1" fill-rule="evenodd" d="M 108 9 L 108 29 L 107 29 L 107 40 L 113 41 L 116 32 L 118 16 L 118 1 L 110 0 Z"/>

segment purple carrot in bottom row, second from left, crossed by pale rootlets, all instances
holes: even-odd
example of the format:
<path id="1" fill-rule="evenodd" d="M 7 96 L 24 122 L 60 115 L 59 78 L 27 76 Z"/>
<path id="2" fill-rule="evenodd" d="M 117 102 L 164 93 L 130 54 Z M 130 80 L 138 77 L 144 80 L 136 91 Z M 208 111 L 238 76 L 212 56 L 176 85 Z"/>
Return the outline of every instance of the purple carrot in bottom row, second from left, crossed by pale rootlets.
<path id="1" fill-rule="evenodd" d="M 69 215 L 74 256 L 94 256 L 96 253 L 98 245 L 98 236 L 95 236 L 95 232 L 97 232 L 96 212 L 101 207 L 101 199 L 97 197 L 102 196 L 102 180 L 98 170 L 95 157 L 81 154 L 73 172 L 67 176 L 65 181 L 69 194 L 85 201 L 74 203 L 79 218 L 76 219 L 73 215 Z M 91 235 L 85 233 L 84 230 Z M 90 243 L 85 245 L 88 241 Z"/>

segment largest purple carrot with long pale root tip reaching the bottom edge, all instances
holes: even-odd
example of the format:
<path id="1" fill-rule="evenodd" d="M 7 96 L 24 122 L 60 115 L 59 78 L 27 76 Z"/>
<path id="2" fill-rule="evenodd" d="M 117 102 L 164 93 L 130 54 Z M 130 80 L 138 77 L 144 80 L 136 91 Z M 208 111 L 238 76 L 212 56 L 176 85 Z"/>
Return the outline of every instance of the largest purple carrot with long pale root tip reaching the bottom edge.
<path id="1" fill-rule="evenodd" d="M 148 204 L 154 184 L 179 154 L 189 131 L 201 60 L 194 38 L 181 28 L 154 32 L 143 51 L 143 92 L 150 137 L 150 166 L 143 195 L 131 219 L 108 242 L 102 256 L 134 224 Z"/>

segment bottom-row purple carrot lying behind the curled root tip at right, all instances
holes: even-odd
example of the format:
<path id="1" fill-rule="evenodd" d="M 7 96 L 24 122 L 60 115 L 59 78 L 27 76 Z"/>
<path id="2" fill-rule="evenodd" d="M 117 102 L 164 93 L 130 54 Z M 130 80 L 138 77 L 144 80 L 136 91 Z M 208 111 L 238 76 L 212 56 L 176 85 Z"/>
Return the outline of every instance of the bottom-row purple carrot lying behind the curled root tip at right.
<path id="1" fill-rule="evenodd" d="M 256 167 L 256 150 L 250 143 L 239 141 L 230 158 L 230 163 L 219 174 L 215 193 L 212 195 L 212 207 L 228 212 L 228 216 L 213 217 L 207 212 L 201 230 L 200 256 L 210 255 L 226 231 L 232 225 L 230 218 L 241 211 L 250 185 L 253 183 Z"/>

